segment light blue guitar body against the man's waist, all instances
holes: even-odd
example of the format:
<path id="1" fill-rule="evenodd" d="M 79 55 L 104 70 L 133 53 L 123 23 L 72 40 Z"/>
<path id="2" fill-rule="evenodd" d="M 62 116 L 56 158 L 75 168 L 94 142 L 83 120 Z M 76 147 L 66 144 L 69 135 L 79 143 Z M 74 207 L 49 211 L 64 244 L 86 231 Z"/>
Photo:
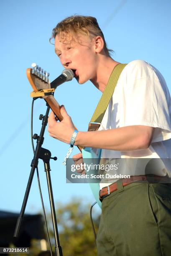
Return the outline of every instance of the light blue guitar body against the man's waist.
<path id="1" fill-rule="evenodd" d="M 83 148 L 82 149 L 82 157 L 83 157 L 83 162 L 86 164 L 86 165 L 91 165 L 91 164 L 99 164 L 100 162 L 100 155 L 101 155 L 101 149 L 98 149 L 97 151 L 97 154 L 95 154 L 95 152 L 92 150 L 92 148 Z M 91 174 L 97 174 L 98 172 L 98 169 L 90 169 L 89 172 L 86 172 L 86 174 L 90 175 Z M 94 198 L 95 200 L 97 201 L 97 204 L 100 206 L 100 208 L 102 208 L 102 203 L 100 202 L 99 200 L 99 191 L 100 191 L 100 180 L 99 182 L 97 183 L 97 179 L 96 180 L 96 183 L 92 183 L 93 182 L 93 178 L 89 178 L 89 185 L 90 185 L 90 188 L 92 190 L 92 193 L 94 195 Z"/>

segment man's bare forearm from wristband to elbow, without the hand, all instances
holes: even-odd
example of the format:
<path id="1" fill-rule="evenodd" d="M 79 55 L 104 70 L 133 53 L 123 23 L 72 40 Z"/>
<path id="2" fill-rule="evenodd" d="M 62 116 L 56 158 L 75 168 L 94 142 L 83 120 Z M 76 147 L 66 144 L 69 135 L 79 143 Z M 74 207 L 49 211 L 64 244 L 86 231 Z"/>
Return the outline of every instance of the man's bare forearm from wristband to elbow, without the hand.
<path id="1" fill-rule="evenodd" d="M 132 125 L 105 131 L 79 131 L 74 145 L 132 151 L 150 146 L 154 128 Z"/>

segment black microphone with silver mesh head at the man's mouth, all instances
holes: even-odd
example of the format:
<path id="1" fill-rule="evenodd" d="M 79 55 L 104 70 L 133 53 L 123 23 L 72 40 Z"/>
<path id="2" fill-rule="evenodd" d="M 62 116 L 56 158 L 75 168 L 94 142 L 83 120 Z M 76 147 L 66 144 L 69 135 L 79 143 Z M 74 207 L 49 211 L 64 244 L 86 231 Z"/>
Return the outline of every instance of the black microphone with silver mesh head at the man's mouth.
<path id="1" fill-rule="evenodd" d="M 56 89 L 60 84 L 64 82 L 71 81 L 74 78 L 74 72 L 72 69 L 64 69 L 62 74 L 57 77 L 53 82 L 51 82 L 51 88 Z"/>

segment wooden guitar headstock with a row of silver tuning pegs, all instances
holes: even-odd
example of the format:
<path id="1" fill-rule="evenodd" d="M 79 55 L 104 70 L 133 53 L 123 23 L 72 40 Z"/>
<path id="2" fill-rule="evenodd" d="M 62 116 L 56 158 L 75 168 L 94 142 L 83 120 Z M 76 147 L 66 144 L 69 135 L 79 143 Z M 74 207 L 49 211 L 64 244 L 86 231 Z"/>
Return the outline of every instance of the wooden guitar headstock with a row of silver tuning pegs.
<path id="1" fill-rule="evenodd" d="M 36 63 L 31 65 L 31 69 L 27 69 L 27 78 L 35 92 L 43 89 L 50 89 L 51 84 L 48 79 L 49 73 L 44 71 L 41 67 L 38 67 Z"/>

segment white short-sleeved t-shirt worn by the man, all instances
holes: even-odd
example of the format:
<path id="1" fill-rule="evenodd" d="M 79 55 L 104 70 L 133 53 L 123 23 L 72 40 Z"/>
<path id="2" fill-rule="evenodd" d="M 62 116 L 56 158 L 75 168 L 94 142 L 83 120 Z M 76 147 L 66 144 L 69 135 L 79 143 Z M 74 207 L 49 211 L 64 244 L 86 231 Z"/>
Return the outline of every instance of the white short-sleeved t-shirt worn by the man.
<path id="1" fill-rule="evenodd" d="M 112 164 L 120 164 L 112 174 L 144 175 L 147 173 L 138 166 L 146 166 L 149 159 L 164 158 L 165 165 L 158 159 L 161 166 L 157 164 L 158 168 L 152 168 L 149 174 L 171 177 L 171 97 L 161 73 L 142 60 L 131 61 L 123 69 L 99 131 L 129 125 L 155 127 L 151 145 L 135 151 L 102 149 L 101 158 L 113 159 Z M 133 163 L 121 160 L 123 158 L 133 158 Z M 146 158 L 146 164 L 140 158 Z M 102 179 L 100 189 L 116 180 Z"/>

